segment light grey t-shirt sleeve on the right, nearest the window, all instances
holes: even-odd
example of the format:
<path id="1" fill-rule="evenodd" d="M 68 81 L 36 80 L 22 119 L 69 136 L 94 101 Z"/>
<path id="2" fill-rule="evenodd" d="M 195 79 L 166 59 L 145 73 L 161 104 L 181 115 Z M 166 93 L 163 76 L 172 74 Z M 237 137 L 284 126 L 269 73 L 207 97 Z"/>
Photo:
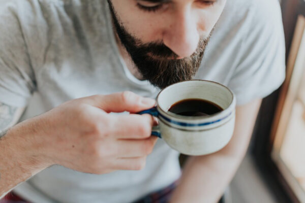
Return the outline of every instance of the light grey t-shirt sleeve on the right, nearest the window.
<path id="1" fill-rule="evenodd" d="M 236 95 L 237 105 L 267 96 L 278 89 L 285 79 L 281 9 L 277 0 L 267 2 L 265 9 L 253 6 L 249 11 L 252 13 L 249 31 L 245 33 L 240 61 L 228 84 Z"/>

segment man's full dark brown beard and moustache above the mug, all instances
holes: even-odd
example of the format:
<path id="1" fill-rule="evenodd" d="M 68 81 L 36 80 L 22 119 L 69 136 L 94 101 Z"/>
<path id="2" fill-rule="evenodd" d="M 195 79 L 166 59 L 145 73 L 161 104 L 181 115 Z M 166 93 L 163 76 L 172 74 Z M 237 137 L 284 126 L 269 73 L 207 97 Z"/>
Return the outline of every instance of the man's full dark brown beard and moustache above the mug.
<path id="1" fill-rule="evenodd" d="M 210 35 L 200 38 L 198 47 L 191 56 L 176 59 L 178 55 L 162 42 L 142 43 L 131 35 L 118 19 L 110 0 L 107 1 L 117 36 L 144 80 L 163 89 L 195 76 Z"/>

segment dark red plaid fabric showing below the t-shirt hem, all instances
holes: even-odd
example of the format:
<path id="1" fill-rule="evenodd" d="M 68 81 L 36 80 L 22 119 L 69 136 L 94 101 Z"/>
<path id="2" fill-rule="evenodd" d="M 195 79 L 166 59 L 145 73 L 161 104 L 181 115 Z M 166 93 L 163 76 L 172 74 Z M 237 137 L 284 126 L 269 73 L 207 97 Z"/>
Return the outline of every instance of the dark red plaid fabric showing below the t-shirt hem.
<path id="1" fill-rule="evenodd" d="M 167 203 L 172 194 L 172 191 L 177 186 L 177 181 L 171 185 L 150 193 L 147 196 L 135 201 L 134 203 Z M 14 192 L 8 193 L 3 199 L 0 199 L 0 203 L 31 203 L 16 195 Z"/>

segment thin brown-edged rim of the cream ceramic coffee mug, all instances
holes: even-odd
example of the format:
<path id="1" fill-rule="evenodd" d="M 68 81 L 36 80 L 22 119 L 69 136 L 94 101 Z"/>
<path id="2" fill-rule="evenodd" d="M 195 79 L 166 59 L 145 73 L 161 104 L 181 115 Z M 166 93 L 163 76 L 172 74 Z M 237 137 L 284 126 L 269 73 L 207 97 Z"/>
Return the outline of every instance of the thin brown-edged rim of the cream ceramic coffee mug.
<path id="1" fill-rule="evenodd" d="M 164 111 L 164 110 L 160 107 L 160 105 L 159 105 L 159 96 L 160 96 L 160 94 L 161 94 L 165 89 L 167 89 L 167 88 L 170 87 L 170 86 L 173 86 L 173 85 L 178 84 L 178 83 L 184 83 L 184 82 L 190 82 L 190 81 L 203 81 L 203 82 L 215 83 L 215 84 L 217 84 L 217 85 L 220 85 L 220 86 L 226 88 L 226 89 L 230 92 L 230 94 L 231 94 L 231 96 L 232 96 L 232 100 L 231 100 L 231 103 L 229 104 L 228 108 L 226 108 L 226 109 L 224 109 L 224 110 L 222 110 L 222 111 L 220 111 L 220 112 L 218 112 L 218 113 L 215 113 L 215 114 L 212 114 L 212 115 L 204 115 L 204 116 L 182 116 L 182 115 L 178 115 L 178 114 L 171 113 L 171 112 L 169 112 L 169 111 Z M 217 117 L 218 115 L 221 115 L 221 114 L 226 114 L 226 112 L 231 111 L 230 109 L 231 109 L 231 106 L 232 106 L 233 102 L 235 101 L 235 99 L 236 99 L 236 98 L 235 98 L 235 96 L 234 96 L 234 93 L 233 93 L 227 86 L 225 86 L 225 85 L 223 85 L 223 84 L 220 84 L 220 83 L 218 83 L 218 82 L 215 82 L 215 81 L 210 81 L 210 80 L 199 80 L 199 79 L 196 79 L 196 80 L 187 80 L 187 81 L 176 82 L 176 83 L 173 83 L 173 84 L 167 86 L 166 88 L 162 89 L 162 90 L 158 93 L 157 99 L 156 99 L 156 100 L 157 100 L 157 107 L 158 107 L 158 110 L 161 111 L 160 113 L 163 113 L 163 114 L 166 114 L 166 115 L 168 115 L 168 116 L 170 116 L 170 117 L 177 118 L 177 119 L 181 119 L 181 120 L 198 121 L 198 120 L 203 120 L 203 119 L 208 119 L 208 118 L 214 118 L 214 117 Z M 230 112 L 228 112 L 228 114 L 230 114 Z M 229 115 L 228 115 L 228 116 L 229 116 Z M 226 116 L 225 116 L 225 117 L 226 117 Z"/>

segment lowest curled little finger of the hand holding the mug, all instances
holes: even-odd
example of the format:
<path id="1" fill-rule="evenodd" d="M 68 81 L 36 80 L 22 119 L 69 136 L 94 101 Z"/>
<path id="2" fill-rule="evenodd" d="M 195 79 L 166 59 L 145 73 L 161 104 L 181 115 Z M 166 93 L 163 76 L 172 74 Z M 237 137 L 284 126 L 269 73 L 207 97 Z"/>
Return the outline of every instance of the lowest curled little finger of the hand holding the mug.
<path id="1" fill-rule="evenodd" d="M 113 170 L 133 170 L 139 171 L 145 167 L 146 156 L 133 158 L 117 158 L 112 167 Z"/>

